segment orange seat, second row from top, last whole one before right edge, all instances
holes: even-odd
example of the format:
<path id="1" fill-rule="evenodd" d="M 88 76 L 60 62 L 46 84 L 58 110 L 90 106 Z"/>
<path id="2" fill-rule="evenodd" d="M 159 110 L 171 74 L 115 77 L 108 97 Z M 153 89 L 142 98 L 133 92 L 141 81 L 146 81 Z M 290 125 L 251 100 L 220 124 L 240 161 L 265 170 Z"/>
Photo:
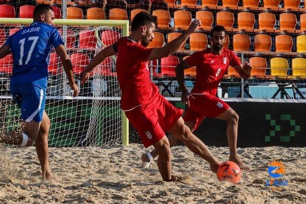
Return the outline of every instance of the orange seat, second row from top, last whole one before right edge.
<path id="1" fill-rule="evenodd" d="M 286 33 L 300 33 L 295 30 L 296 16 L 292 13 L 282 13 L 279 15 L 280 30 Z"/>

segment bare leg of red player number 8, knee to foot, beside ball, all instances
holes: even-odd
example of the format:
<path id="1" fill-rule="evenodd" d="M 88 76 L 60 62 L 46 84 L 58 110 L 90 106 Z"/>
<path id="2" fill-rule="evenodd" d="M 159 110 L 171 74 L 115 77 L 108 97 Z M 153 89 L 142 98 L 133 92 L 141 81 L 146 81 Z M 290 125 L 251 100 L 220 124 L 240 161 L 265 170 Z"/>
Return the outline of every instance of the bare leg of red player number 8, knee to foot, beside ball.
<path id="1" fill-rule="evenodd" d="M 241 161 L 237 153 L 237 137 L 238 137 L 238 120 L 239 116 L 231 107 L 227 108 L 223 113 L 216 117 L 217 119 L 225 120 L 227 122 L 227 141 L 230 149 L 230 161 L 238 164 L 243 170 L 248 170 L 248 167 Z"/>

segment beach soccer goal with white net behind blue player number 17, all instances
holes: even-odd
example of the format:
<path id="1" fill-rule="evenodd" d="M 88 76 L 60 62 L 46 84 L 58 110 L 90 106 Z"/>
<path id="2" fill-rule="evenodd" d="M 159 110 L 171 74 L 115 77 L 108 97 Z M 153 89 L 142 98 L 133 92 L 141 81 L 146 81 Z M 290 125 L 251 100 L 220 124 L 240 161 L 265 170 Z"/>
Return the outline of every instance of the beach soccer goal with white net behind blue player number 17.
<path id="1" fill-rule="evenodd" d="M 0 46 L 9 35 L 28 26 L 32 19 L 2 18 L 2 22 L 6 24 L 0 26 Z M 79 76 L 99 51 L 127 35 L 128 21 L 56 19 L 55 24 L 72 61 L 80 94 L 72 97 L 61 60 L 52 49 L 45 108 L 51 120 L 49 145 L 127 144 L 128 127 L 120 110 L 116 56 L 94 68 L 85 85 L 80 85 Z M 0 131 L 4 133 L 21 128 L 20 110 L 10 95 L 12 67 L 11 54 L 0 60 Z"/>

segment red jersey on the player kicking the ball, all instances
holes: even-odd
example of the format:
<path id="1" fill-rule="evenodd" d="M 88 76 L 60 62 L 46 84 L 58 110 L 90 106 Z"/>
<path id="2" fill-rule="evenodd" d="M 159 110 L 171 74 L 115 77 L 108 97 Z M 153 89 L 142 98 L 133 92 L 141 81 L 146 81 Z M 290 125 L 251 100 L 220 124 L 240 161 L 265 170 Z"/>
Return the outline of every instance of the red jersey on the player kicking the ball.
<path id="1" fill-rule="evenodd" d="M 153 101 L 159 93 L 150 80 L 147 59 L 152 52 L 128 37 L 113 45 L 117 52 L 116 72 L 121 89 L 121 109 L 131 110 Z"/>

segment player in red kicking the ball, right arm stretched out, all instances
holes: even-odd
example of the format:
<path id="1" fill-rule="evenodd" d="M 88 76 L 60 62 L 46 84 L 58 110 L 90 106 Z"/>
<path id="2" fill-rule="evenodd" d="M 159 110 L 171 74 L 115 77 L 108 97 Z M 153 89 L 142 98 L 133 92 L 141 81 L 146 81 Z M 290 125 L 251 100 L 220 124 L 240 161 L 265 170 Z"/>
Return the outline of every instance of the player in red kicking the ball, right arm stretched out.
<path id="1" fill-rule="evenodd" d="M 153 145 L 159 154 L 157 166 L 164 181 L 175 180 L 171 176 L 171 151 L 165 131 L 182 140 L 193 153 L 208 161 L 212 171 L 216 172 L 220 164 L 185 125 L 181 117 L 183 110 L 177 109 L 159 94 L 158 88 L 150 80 L 147 67 L 147 61 L 163 58 L 177 51 L 199 25 L 201 21 L 194 20 L 186 32 L 166 46 L 147 49 L 154 37 L 157 17 L 140 12 L 132 21 L 131 34 L 99 52 L 82 73 L 81 83 L 84 84 L 89 78 L 89 71 L 105 58 L 117 54 L 116 71 L 122 92 L 121 109 L 136 128 L 143 145 L 146 148 Z"/>

